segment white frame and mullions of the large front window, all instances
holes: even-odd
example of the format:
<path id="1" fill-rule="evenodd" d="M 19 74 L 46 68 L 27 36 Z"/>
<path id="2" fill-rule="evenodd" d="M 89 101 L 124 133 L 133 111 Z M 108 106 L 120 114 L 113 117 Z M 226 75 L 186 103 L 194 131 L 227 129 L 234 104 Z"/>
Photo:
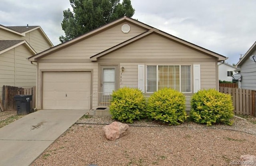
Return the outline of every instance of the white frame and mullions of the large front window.
<path id="1" fill-rule="evenodd" d="M 184 94 L 192 93 L 192 64 L 146 64 L 146 93 L 153 94 L 154 92 L 148 92 L 148 66 L 156 66 L 156 91 L 158 91 L 158 66 L 179 66 L 180 68 L 180 91 L 181 92 L 181 66 L 190 66 L 190 92 L 182 92 Z"/>

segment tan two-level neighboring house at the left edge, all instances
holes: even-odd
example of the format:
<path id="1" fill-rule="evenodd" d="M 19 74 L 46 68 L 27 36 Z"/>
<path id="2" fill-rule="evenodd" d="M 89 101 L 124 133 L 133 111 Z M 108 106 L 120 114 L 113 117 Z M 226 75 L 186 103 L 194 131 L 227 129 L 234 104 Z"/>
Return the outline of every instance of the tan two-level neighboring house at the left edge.
<path id="1" fill-rule="evenodd" d="M 0 98 L 2 87 L 36 86 L 36 63 L 27 59 L 53 44 L 40 26 L 0 25 Z"/>

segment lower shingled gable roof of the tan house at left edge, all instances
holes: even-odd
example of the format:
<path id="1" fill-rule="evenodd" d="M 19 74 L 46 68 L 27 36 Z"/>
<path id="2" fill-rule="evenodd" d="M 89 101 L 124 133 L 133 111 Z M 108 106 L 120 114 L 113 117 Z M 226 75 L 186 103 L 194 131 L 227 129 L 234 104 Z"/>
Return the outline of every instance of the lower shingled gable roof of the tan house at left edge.
<path id="1" fill-rule="evenodd" d="M 36 54 L 36 51 L 28 44 L 26 40 L 0 40 L 0 54 L 20 46 L 21 44 L 25 44 L 25 46 L 32 54 Z"/>

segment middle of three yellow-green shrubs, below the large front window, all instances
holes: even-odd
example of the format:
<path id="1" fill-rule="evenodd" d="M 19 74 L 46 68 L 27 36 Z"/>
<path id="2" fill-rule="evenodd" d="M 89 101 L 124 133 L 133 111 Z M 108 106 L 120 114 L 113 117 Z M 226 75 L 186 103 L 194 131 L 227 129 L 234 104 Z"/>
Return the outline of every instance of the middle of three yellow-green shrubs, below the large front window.
<path id="1" fill-rule="evenodd" d="M 164 88 L 148 98 L 147 116 L 154 120 L 177 125 L 187 119 L 185 96 L 181 92 Z"/>

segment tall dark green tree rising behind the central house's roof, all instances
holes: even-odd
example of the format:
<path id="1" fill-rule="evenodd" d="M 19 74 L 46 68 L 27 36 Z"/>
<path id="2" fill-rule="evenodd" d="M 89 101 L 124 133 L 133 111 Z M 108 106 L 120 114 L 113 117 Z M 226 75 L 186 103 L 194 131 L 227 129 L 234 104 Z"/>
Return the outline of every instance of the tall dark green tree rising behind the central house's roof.
<path id="1" fill-rule="evenodd" d="M 63 11 L 60 42 L 66 42 L 122 16 L 132 17 L 135 10 L 130 0 L 70 0 L 73 11 Z"/>

